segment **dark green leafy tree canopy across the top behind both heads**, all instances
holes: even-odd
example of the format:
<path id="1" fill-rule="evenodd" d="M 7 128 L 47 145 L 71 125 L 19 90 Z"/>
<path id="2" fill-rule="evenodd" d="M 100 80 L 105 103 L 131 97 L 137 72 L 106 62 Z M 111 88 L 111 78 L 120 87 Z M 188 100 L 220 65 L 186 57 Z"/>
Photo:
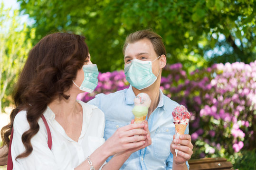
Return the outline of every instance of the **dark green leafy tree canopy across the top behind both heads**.
<path id="1" fill-rule="evenodd" d="M 35 20 L 37 41 L 52 31 L 84 34 L 100 71 L 123 68 L 126 35 L 147 28 L 162 36 L 168 63 L 186 70 L 256 59 L 255 0 L 18 1 Z"/>

